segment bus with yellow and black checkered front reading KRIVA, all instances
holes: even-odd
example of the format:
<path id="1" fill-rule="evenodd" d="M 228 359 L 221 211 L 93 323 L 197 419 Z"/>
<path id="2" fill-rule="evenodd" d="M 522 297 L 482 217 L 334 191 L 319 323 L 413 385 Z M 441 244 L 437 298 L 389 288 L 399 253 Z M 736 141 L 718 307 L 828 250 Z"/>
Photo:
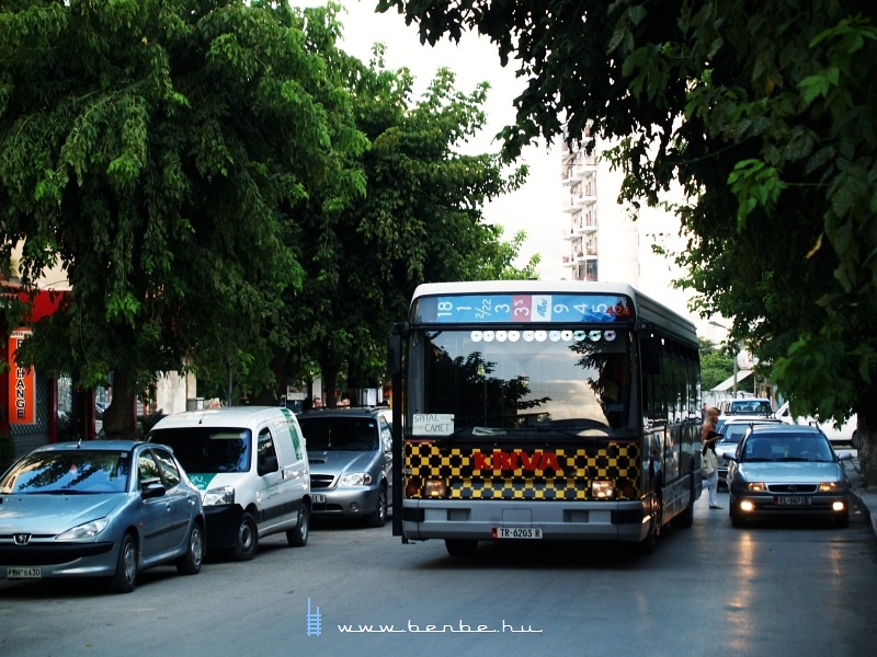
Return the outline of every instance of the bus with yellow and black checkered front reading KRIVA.
<path id="1" fill-rule="evenodd" d="M 650 552 L 699 497 L 694 325 L 622 284 L 417 288 L 389 338 L 394 533 L 620 541 Z"/>

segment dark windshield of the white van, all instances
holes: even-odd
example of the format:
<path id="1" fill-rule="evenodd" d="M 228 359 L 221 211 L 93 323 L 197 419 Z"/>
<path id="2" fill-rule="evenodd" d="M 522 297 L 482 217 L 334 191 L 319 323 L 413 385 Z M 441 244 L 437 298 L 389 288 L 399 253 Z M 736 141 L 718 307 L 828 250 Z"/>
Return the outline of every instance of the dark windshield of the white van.
<path id="1" fill-rule="evenodd" d="M 187 474 L 250 471 L 252 434 L 249 429 L 153 429 L 149 441 L 170 447 Z"/>

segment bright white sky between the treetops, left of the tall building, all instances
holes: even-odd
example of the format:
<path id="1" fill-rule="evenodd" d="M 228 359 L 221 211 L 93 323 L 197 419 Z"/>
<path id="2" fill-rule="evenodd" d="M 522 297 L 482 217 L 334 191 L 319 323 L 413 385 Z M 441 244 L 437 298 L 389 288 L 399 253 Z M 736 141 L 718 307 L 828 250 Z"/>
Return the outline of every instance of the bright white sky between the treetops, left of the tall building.
<path id="1" fill-rule="evenodd" d="M 440 68 L 448 68 L 456 74 L 457 91 L 470 93 L 480 82 L 489 82 L 490 91 L 485 106 L 487 125 L 482 134 L 472 141 L 474 150 L 467 152 L 496 152 L 500 145 L 492 137 L 514 120 L 512 101 L 523 89 L 523 81 L 515 80 L 513 64 L 500 66 L 496 46 L 488 39 L 465 34 L 459 45 L 445 39 L 435 47 L 421 45 L 415 24 L 405 24 L 397 13 L 377 14 L 377 0 L 340 0 L 348 11 L 339 20 L 344 25 L 341 47 L 363 61 L 372 56 L 372 46 L 387 46 L 385 64 L 391 69 L 408 67 L 414 76 L 418 93 L 425 89 Z M 323 5 L 319 0 L 293 0 L 298 7 Z M 529 166 L 527 183 L 514 194 L 489 204 L 485 217 L 489 223 L 501 224 L 503 238 L 511 240 L 520 230 L 527 239 L 521 249 L 519 266 L 531 255 L 542 255 L 538 266 L 540 278 L 568 277 L 561 257 L 569 253 L 569 243 L 561 239 L 566 218 L 561 211 L 562 188 L 560 186 L 560 154 L 557 141 L 551 149 L 545 143 L 524 150 L 520 163 Z"/>

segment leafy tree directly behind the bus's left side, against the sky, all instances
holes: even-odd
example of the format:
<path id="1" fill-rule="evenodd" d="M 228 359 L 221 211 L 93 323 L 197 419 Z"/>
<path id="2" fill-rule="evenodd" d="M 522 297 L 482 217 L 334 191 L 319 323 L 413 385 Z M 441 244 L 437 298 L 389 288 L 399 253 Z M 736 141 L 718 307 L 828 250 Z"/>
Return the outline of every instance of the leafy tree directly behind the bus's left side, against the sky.
<path id="1" fill-rule="evenodd" d="M 298 217 L 295 252 L 305 283 L 284 297 L 281 326 L 291 337 L 275 351 L 275 385 L 260 401 L 274 403 L 308 358 L 330 396 L 342 374 L 350 387 L 378 387 L 387 334 L 406 316 L 417 285 L 532 277 L 538 264 L 516 269 L 524 235 L 503 242 L 502 229 L 483 220 L 486 200 L 517 187 L 525 170 L 505 177 L 498 154 L 455 150 L 483 126 L 487 84 L 460 93 L 453 73 L 440 70 L 413 102 L 410 72 L 386 70 L 383 53 L 377 46 L 368 66 L 333 62 L 346 76 L 356 126 L 369 140 L 351 161 L 365 188 L 346 203 L 311 196 Z"/>

